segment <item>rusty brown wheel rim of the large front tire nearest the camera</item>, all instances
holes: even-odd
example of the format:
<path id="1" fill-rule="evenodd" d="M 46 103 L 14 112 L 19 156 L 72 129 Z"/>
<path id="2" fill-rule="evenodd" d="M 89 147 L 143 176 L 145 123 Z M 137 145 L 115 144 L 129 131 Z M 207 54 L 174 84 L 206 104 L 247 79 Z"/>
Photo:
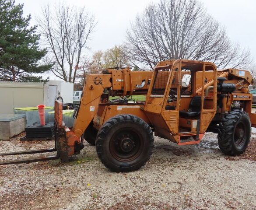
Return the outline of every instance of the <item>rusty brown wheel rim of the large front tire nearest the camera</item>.
<path id="1" fill-rule="evenodd" d="M 143 139 L 140 134 L 131 129 L 116 131 L 110 140 L 109 151 L 118 161 L 129 162 L 135 160 L 143 148 Z"/>

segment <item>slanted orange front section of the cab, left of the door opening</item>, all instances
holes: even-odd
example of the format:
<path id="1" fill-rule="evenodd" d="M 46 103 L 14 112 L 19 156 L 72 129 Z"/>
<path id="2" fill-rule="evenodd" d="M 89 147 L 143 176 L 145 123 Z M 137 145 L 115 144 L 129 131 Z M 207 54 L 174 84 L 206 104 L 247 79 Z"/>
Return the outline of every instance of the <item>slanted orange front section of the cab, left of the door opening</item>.
<path id="1" fill-rule="evenodd" d="M 144 111 L 155 129 L 156 136 L 175 141 L 173 135 L 178 132 L 179 106 L 177 101 L 179 101 L 179 98 L 177 98 L 177 95 L 179 93 L 170 91 L 170 87 L 174 75 L 177 76 L 177 84 L 179 83 L 180 67 L 179 60 L 165 62 L 161 62 L 155 67 Z M 175 64 L 173 65 L 172 62 Z M 172 98 L 168 97 L 169 95 Z M 168 99 L 167 103 L 166 100 Z"/>

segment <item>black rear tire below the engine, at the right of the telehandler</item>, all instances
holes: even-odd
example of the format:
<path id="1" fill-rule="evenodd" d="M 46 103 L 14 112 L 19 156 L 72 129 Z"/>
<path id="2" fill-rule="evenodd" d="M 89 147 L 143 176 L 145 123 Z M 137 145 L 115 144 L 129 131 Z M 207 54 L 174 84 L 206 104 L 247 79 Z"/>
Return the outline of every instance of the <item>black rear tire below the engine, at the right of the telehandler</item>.
<path id="1" fill-rule="evenodd" d="M 232 110 L 219 123 L 218 144 L 221 151 L 228 155 L 242 154 L 250 141 L 251 122 L 242 110 Z"/>

